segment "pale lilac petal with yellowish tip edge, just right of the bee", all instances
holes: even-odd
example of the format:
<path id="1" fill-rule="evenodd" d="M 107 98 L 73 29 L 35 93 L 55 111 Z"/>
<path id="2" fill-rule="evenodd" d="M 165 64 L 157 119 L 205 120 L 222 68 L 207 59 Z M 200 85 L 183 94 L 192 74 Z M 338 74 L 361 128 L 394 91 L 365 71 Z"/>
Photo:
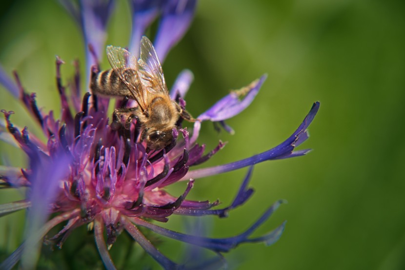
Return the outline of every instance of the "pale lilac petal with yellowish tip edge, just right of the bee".
<path id="1" fill-rule="evenodd" d="M 239 114 L 252 103 L 266 77 L 266 75 L 263 75 L 259 80 L 250 83 L 248 86 L 231 91 L 229 95 L 223 97 L 223 99 L 201 114 L 198 119 L 217 122 Z"/>

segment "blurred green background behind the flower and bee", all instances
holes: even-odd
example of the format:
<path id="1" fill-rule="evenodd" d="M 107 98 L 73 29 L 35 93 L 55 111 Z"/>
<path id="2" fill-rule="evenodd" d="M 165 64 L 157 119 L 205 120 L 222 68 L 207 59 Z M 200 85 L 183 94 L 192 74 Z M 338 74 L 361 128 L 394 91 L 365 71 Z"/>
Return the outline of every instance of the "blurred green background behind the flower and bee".
<path id="1" fill-rule="evenodd" d="M 0 62 L 18 70 L 38 104 L 59 114 L 55 55 L 66 62 L 62 79 L 81 60 L 81 33 L 57 1 L 2 2 Z M 225 254 L 230 269 L 405 269 L 405 2 L 401 0 L 201 0 L 184 39 L 163 65 L 168 85 L 183 68 L 195 81 L 187 108 L 199 115 L 228 93 L 268 74 L 256 100 L 227 121 L 235 135 L 204 123 L 200 143 L 226 147 L 208 164 L 236 161 L 286 139 L 315 101 L 321 109 L 300 149 L 304 157 L 255 166 L 253 197 L 226 219 L 206 218 L 207 234 L 232 236 L 250 226 L 278 199 L 283 205 L 255 235 L 287 220 L 275 245 L 244 244 Z M 107 43 L 126 46 L 130 14 L 125 1 L 109 24 Z M 108 68 L 108 63 L 102 63 Z M 82 70 L 84 74 L 84 71 Z M 84 86 L 84 83 L 83 83 Z M 13 122 L 39 131 L 22 106 L 0 89 L 0 108 L 14 110 Z M 39 132 L 38 132 L 39 133 Z M 0 144 L 1 164 L 23 166 L 24 155 Z M 190 198 L 229 204 L 246 169 L 199 179 Z M 180 194 L 184 183 L 172 187 Z M 0 202 L 23 192 L 0 190 Z M 167 228 L 184 231 L 183 218 Z M 0 219 L 0 258 L 22 240 L 24 213 Z M 79 229 L 62 250 L 45 247 L 42 269 L 102 269 L 94 240 Z M 161 238 L 159 248 L 179 261 L 182 245 Z M 126 249 L 127 247 L 127 249 Z M 131 252 L 124 252 L 130 250 Z M 111 250 L 123 269 L 159 269 L 127 237 Z M 126 256 L 126 257 L 125 257 Z M 94 263 L 92 258 L 97 263 Z M 127 262 L 124 262 L 127 260 Z"/>

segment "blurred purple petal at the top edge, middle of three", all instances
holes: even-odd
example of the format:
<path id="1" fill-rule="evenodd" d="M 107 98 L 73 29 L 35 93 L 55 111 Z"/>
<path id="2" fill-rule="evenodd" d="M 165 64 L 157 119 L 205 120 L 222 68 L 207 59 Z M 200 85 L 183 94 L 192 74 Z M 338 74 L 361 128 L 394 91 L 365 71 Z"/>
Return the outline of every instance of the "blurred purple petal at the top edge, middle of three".
<path id="1" fill-rule="evenodd" d="M 129 51 L 139 57 L 139 44 L 145 29 L 156 19 L 162 0 L 132 0 L 132 35 Z"/>

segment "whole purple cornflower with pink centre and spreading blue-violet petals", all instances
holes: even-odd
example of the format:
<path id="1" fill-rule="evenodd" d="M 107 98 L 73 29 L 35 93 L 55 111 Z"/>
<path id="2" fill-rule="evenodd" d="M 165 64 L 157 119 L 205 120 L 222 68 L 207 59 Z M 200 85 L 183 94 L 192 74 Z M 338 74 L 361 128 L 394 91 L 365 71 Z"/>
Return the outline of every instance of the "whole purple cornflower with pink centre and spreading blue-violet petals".
<path id="1" fill-rule="evenodd" d="M 98 64 L 106 37 L 105 26 L 113 8 L 113 1 L 80 1 L 80 8 L 69 1 L 62 1 L 81 25 L 83 37 L 90 47 L 87 54 L 86 71 Z M 160 27 L 155 39 L 158 55 L 163 60 L 170 48 L 177 43 L 192 20 L 195 0 L 147 1 L 133 0 L 133 33 L 130 42 L 132 52 L 138 52 L 142 33 L 159 15 Z M 46 142 L 12 124 L 12 111 L 2 110 L 5 122 L 0 126 L 1 139 L 14 139 L 27 154 L 27 168 L 6 167 L 0 173 L 1 188 L 28 187 L 26 199 L 0 206 L 0 216 L 29 208 L 27 214 L 26 240 L 3 263 L 0 269 L 11 269 L 20 259 L 23 267 L 33 267 L 38 257 L 38 243 L 58 224 L 64 227 L 47 242 L 59 248 L 69 234 L 83 225 L 94 229 L 94 236 L 101 259 L 106 269 L 115 269 L 108 249 L 119 234 L 125 230 L 163 268 L 185 268 L 165 257 L 140 230 L 141 227 L 163 236 L 212 250 L 218 254 L 227 252 L 242 243 L 263 242 L 271 245 L 284 230 L 284 223 L 263 236 L 250 235 L 276 210 L 283 201 L 277 201 L 258 217 L 250 228 L 234 237 L 207 238 L 175 232 L 156 223 L 166 222 L 172 214 L 203 216 L 227 216 L 228 212 L 242 205 L 253 193 L 248 188 L 254 164 L 266 160 L 301 156 L 306 150 L 294 151 L 307 138 L 306 129 L 312 122 L 319 103 L 313 104 L 308 115 L 297 130 L 282 144 L 258 155 L 230 164 L 192 169 L 202 164 L 223 148 L 220 142 L 215 149 L 204 154 L 205 146 L 197 143 L 201 122 L 218 122 L 227 131 L 232 129 L 224 121 L 246 108 L 258 93 L 265 76 L 239 91 L 233 91 L 209 108 L 194 124 L 191 136 L 186 128 L 174 132 L 171 145 L 158 151 L 147 151 L 139 140 L 139 129 L 132 123 L 129 130 L 113 130 L 109 125 L 108 98 L 97 97 L 86 92 L 81 97 L 78 65 L 69 95 L 61 81 L 61 59 L 56 60 L 57 89 L 61 98 L 61 118 L 55 119 L 53 112 L 38 108 L 35 94 L 27 93 L 15 73 L 13 83 L 0 69 L 0 83 L 18 97 L 41 126 Z M 193 79 L 190 71 L 183 71 L 172 86 L 171 97 L 185 106 L 184 97 Z M 86 89 L 88 90 L 88 89 Z M 121 107 L 124 101 L 118 101 Z M 7 137 L 8 136 L 8 137 Z M 216 208 L 218 201 L 186 200 L 194 179 L 215 175 L 241 167 L 250 166 L 232 204 Z M 174 197 L 164 187 L 178 181 L 188 181 L 183 194 Z M 52 214 L 52 215 L 50 215 Z M 104 239 L 104 230 L 106 239 Z M 216 264 L 221 261 L 205 262 Z"/>

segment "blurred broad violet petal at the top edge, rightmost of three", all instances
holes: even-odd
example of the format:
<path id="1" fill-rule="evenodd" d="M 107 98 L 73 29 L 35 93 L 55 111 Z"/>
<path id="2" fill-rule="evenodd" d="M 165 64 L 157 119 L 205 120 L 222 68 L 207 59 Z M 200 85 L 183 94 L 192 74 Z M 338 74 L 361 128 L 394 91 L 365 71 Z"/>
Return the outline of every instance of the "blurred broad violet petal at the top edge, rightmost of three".
<path id="1" fill-rule="evenodd" d="M 162 20 L 155 39 L 155 49 L 161 62 L 169 50 L 187 31 L 194 17 L 197 0 L 166 0 Z"/>

